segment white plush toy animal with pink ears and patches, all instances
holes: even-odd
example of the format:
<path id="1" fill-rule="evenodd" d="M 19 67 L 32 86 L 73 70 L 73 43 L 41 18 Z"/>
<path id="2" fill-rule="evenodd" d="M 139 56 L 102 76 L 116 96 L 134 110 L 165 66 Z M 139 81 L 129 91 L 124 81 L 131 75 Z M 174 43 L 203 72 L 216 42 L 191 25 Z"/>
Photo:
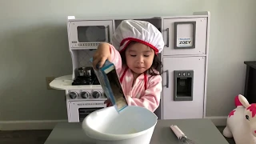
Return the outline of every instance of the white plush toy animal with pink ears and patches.
<path id="1" fill-rule="evenodd" d="M 227 117 L 223 135 L 233 137 L 236 144 L 256 144 L 256 103 L 249 104 L 241 94 L 234 103 L 236 108 Z"/>

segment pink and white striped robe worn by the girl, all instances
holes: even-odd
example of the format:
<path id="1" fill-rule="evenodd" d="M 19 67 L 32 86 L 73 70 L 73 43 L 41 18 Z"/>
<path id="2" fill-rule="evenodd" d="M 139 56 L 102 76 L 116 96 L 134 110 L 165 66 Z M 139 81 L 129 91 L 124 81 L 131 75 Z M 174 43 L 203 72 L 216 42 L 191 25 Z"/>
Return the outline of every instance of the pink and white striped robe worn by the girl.
<path id="1" fill-rule="evenodd" d="M 128 105 L 142 106 L 154 112 L 159 106 L 162 92 L 161 75 L 141 74 L 132 86 L 134 81 L 132 71 L 122 65 L 121 55 L 112 45 L 110 45 L 110 53 L 110 62 L 116 67 Z"/>

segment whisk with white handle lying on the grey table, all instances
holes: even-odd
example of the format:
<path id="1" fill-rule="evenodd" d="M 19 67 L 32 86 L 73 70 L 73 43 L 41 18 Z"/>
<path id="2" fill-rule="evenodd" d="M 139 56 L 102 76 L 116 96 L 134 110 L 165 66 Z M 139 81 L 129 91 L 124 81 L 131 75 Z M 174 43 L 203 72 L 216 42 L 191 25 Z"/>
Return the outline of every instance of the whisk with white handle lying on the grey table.
<path id="1" fill-rule="evenodd" d="M 186 135 L 178 128 L 176 125 L 171 125 L 170 129 L 173 130 L 174 134 L 177 136 L 179 142 L 182 144 L 196 144 L 190 138 L 187 138 Z"/>

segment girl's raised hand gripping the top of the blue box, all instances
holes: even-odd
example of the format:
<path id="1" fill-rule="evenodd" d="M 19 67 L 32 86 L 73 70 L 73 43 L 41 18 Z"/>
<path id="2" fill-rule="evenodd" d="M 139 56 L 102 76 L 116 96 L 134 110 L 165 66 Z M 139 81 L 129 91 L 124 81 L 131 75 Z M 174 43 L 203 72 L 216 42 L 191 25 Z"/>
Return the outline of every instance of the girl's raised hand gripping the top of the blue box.
<path id="1" fill-rule="evenodd" d="M 103 64 L 106 62 L 106 59 L 110 61 L 110 45 L 106 42 L 101 43 L 98 46 L 98 49 L 94 53 L 93 67 L 95 70 L 101 68 Z"/>

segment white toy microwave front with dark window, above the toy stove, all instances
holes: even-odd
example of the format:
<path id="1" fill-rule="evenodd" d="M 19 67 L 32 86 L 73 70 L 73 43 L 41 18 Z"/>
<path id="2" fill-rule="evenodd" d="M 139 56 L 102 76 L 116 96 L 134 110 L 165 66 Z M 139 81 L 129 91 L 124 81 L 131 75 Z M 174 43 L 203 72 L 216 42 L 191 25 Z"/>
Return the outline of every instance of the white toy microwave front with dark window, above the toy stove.
<path id="1" fill-rule="evenodd" d="M 113 21 L 70 20 L 68 37 L 71 49 L 94 49 L 101 42 L 110 42 L 113 35 Z M 111 43 L 111 42 L 110 42 Z"/>

